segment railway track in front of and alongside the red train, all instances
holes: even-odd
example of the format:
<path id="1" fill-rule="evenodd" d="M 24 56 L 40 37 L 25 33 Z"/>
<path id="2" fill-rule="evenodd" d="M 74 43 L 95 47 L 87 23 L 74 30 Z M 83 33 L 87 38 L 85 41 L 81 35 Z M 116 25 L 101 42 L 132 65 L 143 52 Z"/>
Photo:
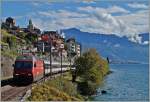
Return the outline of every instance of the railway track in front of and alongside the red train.
<path id="1" fill-rule="evenodd" d="M 65 71 L 68 72 L 68 71 Z M 63 72 L 63 73 L 65 73 Z M 53 78 L 60 76 L 61 73 L 55 73 L 52 74 L 52 76 L 46 76 L 44 78 L 42 78 L 41 80 L 35 82 L 34 84 L 41 84 L 42 82 L 46 81 L 46 80 L 52 80 Z M 32 88 L 32 84 L 29 84 L 27 86 L 14 86 L 8 90 L 5 90 L 3 92 L 1 92 L 1 101 L 17 101 L 17 100 L 21 100 L 21 98 L 26 94 L 26 92 L 28 90 L 30 90 Z"/>

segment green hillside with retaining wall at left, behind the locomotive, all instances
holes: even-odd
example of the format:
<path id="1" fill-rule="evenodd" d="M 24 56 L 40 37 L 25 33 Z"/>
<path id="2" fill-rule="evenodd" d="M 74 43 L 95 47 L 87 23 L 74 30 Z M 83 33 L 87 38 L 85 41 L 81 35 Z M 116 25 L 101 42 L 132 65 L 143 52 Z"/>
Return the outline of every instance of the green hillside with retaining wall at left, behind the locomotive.
<path id="1" fill-rule="evenodd" d="M 1 77 L 5 79 L 12 77 L 12 64 L 14 64 L 16 56 L 21 53 L 23 46 L 29 46 L 29 44 L 26 40 L 9 33 L 6 29 L 1 30 L 1 39 Z"/>

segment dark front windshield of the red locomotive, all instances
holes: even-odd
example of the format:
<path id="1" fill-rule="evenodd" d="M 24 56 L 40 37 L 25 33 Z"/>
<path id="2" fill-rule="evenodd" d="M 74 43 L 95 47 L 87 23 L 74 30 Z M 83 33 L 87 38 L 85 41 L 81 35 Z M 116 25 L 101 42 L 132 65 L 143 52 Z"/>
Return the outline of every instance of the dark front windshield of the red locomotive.
<path id="1" fill-rule="evenodd" d="M 31 61 L 16 61 L 15 62 L 15 68 L 16 69 L 31 69 L 33 67 L 33 64 Z"/>

